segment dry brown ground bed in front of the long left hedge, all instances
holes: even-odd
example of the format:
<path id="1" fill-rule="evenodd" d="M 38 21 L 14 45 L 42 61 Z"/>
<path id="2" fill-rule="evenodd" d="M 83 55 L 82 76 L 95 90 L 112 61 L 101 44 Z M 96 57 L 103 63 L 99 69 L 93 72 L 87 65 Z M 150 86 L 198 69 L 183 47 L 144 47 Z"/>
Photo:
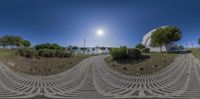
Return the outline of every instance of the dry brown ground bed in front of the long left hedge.
<path id="1" fill-rule="evenodd" d="M 47 76 L 57 74 L 80 63 L 92 55 L 74 55 L 68 58 L 43 58 L 30 59 L 20 56 L 4 59 L 4 63 L 11 69 L 32 75 Z"/>

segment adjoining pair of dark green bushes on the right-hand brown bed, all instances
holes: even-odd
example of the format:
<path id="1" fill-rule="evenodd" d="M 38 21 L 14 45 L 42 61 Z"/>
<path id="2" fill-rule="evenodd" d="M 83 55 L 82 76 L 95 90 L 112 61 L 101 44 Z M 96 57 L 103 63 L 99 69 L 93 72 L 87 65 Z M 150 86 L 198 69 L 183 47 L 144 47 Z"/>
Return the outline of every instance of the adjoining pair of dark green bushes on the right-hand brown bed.
<path id="1" fill-rule="evenodd" d="M 128 53 L 127 48 L 113 48 L 110 54 L 113 59 L 139 59 L 142 56 L 141 51 L 135 48 L 128 49 Z"/>

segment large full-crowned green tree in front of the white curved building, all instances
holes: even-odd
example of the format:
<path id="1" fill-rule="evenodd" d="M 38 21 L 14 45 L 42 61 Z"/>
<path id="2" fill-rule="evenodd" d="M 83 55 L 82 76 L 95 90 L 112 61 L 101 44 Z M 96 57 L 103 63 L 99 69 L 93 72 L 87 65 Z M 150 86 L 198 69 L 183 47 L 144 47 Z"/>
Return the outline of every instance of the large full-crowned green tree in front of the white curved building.
<path id="1" fill-rule="evenodd" d="M 160 52 L 162 52 L 162 46 L 166 47 L 166 53 L 168 44 L 180 40 L 181 31 L 175 26 L 161 27 L 155 30 L 151 35 L 151 45 L 159 46 Z"/>

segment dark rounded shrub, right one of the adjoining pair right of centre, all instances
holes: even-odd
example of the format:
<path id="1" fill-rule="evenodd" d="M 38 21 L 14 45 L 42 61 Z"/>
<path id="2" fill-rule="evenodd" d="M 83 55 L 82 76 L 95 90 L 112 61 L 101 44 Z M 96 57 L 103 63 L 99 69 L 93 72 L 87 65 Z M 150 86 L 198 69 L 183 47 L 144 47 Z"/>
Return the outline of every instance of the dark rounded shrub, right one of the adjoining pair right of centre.
<path id="1" fill-rule="evenodd" d="M 128 49 L 128 57 L 131 59 L 139 59 L 141 58 L 142 53 L 139 49 L 131 48 Z"/>

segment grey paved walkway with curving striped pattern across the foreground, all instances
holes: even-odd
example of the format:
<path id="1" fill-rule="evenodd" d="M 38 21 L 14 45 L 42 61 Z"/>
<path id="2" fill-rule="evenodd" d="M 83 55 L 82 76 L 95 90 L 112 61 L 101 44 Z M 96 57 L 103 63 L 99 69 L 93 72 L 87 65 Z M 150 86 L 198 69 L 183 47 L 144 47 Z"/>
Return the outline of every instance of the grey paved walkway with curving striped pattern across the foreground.
<path id="1" fill-rule="evenodd" d="M 126 76 L 110 69 L 106 56 L 85 59 L 72 69 L 51 76 L 32 76 L 10 70 L 0 62 L 0 98 L 198 98 L 200 61 L 179 55 L 154 74 Z"/>

